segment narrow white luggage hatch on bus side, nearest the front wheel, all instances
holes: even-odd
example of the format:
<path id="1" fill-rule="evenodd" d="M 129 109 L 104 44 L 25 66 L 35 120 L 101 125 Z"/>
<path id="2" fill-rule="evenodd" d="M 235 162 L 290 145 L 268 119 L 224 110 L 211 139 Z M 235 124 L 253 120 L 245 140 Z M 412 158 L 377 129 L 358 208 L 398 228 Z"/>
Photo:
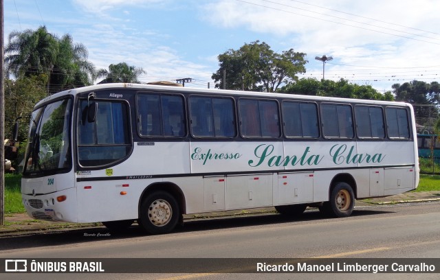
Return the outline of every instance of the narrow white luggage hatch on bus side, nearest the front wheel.
<path id="1" fill-rule="evenodd" d="M 205 211 L 225 209 L 225 176 L 206 176 L 204 185 Z"/>

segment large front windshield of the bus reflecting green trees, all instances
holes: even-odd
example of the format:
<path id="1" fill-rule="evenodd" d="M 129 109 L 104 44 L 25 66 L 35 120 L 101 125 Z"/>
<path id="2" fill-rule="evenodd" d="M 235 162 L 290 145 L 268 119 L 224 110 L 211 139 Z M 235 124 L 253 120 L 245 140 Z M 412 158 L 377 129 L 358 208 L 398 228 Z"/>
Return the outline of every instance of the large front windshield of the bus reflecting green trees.
<path id="1" fill-rule="evenodd" d="M 67 172 L 72 168 L 69 131 L 72 100 L 42 106 L 32 113 L 24 176 Z"/>

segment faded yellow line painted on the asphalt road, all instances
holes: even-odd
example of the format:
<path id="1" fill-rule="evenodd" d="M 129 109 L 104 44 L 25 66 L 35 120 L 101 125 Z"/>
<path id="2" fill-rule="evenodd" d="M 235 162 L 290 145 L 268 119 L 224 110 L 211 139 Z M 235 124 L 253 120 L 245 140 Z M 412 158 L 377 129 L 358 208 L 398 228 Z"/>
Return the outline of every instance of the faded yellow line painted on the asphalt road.
<path id="1" fill-rule="evenodd" d="M 338 257 L 347 257 L 350 255 L 359 255 L 359 254 L 364 254 L 364 253 L 375 253 L 375 252 L 380 252 L 380 251 L 384 251 L 384 250 L 390 250 L 392 249 L 391 247 L 379 247 L 379 248 L 371 248 L 371 249 L 365 249 L 365 250 L 355 250 L 355 251 L 350 251 L 350 252 L 345 252 L 345 253 L 338 253 L 338 254 L 332 254 L 332 255 L 321 255 L 321 256 L 316 256 L 316 257 L 307 257 L 307 258 L 303 258 L 303 259 L 292 259 L 295 261 L 299 261 L 299 262 L 304 262 L 304 261 L 310 261 L 310 260 L 314 260 L 314 259 L 333 259 L 333 258 L 338 258 Z M 270 258 L 267 258 L 270 259 Z M 284 264 L 284 262 L 283 262 Z M 248 270 L 248 269 L 252 269 L 254 268 L 254 266 L 252 267 L 247 267 L 247 268 L 237 268 L 236 272 L 242 271 L 242 270 Z M 206 276 L 210 276 L 210 275 L 217 275 L 217 274 L 221 274 L 221 273 L 234 273 L 232 270 L 227 270 L 227 271 L 216 271 L 216 272 L 211 272 L 211 273 L 195 273 L 195 274 L 190 274 L 190 275 L 180 275 L 180 276 L 176 276 L 176 277 L 169 277 L 169 278 L 164 278 L 164 279 L 159 279 L 159 280 L 182 280 L 182 279 L 193 279 L 193 278 L 201 278 L 201 277 L 206 277 Z"/>

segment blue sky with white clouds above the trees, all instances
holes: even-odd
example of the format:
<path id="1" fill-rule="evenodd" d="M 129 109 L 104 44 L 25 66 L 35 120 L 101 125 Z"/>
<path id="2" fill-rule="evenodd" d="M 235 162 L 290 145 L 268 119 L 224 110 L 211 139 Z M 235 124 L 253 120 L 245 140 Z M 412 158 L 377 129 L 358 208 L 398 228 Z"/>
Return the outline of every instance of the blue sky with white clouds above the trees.
<path id="1" fill-rule="evenodd" d="M 368 84 L 391 91 L 412 80 L 440 82 L 437 0 L 3 0 L 12 31 L 41 25 L 89 51 L 96 69 L 126 62 L 142 82 L 192 78 L 214 87 L 217 57 L 256 40 L 307 54 L 300 78 Z M 96 80 L 99 82 L 99 80 Z"/>

